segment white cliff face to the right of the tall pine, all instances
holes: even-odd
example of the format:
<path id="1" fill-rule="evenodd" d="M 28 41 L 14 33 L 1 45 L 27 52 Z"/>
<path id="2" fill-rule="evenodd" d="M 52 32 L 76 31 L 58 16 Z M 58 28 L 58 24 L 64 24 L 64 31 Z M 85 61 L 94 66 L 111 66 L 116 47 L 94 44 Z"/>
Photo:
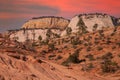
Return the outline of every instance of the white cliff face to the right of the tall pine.
<path id="1" fill-rule="evenodd" d="M 85 25 L 87 26 L 87 30 L 89 32 L 93 31 L 93 26 L 95 24 L 98 24 L 97 30 L 102 29 L 103 27 L 114 27 L 112 19 L 110 16 L 105 15 L 92 15 L 92 17 L 90 18 L 90 16 L 82 16 L 82 20 L 85 23 Z"/>

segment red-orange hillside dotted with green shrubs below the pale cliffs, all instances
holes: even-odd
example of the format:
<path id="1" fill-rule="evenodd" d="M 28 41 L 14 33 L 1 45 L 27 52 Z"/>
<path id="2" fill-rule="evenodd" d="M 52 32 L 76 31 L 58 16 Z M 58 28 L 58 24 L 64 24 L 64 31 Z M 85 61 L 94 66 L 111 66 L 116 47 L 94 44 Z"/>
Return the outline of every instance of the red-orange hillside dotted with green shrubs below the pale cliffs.
<path id="1" fill-rule="evenodd" d="M 3 38 L 1 79 L 119 80 L 119 35 L 120 27 L 116 27 L 82 35 L 71 34 L 39 45 Z"/>

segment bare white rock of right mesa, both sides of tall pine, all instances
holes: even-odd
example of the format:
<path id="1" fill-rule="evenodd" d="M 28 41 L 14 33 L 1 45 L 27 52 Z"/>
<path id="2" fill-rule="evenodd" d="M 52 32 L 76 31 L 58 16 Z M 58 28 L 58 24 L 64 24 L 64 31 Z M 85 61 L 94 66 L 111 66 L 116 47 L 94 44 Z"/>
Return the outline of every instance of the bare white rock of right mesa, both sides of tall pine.
<path id="1" fill-rule="evenodd" d="M 75 16 L 71 19 L 68 27 L 72 29 L 72 33 L 77 33 L 79 31 L 78 22 L 80 18 L 83 20 L 85 26 L 87 27 L 86 30 L 89 32 L 93 32 L 93 26 L 95 24 L 98 25 L 96 30 L 100 30 L 105 27 L 114 27 L 112 18 L 109 15 L 82 15 L 82 16 Z M 61 36 L 67 35 L 66 30 L 64 30 Z"/>

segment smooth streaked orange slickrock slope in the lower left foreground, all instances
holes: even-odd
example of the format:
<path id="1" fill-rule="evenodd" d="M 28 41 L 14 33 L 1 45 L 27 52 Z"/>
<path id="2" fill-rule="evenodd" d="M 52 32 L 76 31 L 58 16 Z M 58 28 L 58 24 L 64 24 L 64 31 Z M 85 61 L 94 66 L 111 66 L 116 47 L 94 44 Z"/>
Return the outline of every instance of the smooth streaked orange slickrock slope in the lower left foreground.
<path id="1" fill-rule="evenodd" d="M 63 66 L 16 53 L 0 52 L 0 80 L 89 80 Z"/>

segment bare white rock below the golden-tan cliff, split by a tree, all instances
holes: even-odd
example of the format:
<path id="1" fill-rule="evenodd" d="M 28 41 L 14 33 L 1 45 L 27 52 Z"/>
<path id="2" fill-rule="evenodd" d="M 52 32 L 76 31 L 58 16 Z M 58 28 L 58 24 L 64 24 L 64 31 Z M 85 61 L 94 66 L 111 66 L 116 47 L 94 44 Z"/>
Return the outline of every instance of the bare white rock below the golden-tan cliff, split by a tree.
<path id="1" fill-rule="evenodd" d="M 19 42 L 24 42 L 27 39 L 38 41 L 38 37 L 41 36 L 42 40 L 46 40 L 48 29 L 31 29 L 31 30 L 19 30 L 15 31 L 10 35 L 11 39 L 16 39 Z M 58 29 L 51 29 L 52 33 L 61 34 L 61 31 Z"/>

